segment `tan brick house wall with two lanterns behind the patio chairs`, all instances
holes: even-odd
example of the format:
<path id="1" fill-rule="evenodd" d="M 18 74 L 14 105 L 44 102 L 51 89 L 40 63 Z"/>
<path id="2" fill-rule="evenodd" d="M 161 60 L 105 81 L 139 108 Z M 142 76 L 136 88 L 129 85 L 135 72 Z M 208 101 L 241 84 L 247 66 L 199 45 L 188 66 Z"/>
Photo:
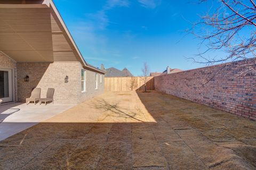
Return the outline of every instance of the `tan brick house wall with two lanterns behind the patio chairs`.
<path id="1" fill-rule="evenodd" d="M 54 88 L 54 103 L 77 104 L 103 92 L 104 87 L 94 87 L 92 71 L 86 71 L 86 92 L 82 93 L 81 69 L 79 62 L 18 63 L 18 100 L 24 102 L 35 87 L 41 88 L 41 97 L 46 96 L 47 88 Z M 24 77 L 29 76 L 29 82 Z M 68 83 L 65 77 L 68 76 Z M 92 79 L 92 80 L 91 80 Z"/>

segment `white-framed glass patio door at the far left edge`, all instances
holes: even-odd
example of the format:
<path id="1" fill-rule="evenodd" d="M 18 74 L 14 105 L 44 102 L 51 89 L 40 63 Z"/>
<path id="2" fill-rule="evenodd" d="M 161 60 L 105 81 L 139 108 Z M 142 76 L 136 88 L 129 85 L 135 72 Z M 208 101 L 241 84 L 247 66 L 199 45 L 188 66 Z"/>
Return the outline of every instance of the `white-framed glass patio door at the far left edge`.
<path id="1" fill-rule="evenodd" d="M 12 101 L 12 70 L 0 68 L 0 99 Z"/>

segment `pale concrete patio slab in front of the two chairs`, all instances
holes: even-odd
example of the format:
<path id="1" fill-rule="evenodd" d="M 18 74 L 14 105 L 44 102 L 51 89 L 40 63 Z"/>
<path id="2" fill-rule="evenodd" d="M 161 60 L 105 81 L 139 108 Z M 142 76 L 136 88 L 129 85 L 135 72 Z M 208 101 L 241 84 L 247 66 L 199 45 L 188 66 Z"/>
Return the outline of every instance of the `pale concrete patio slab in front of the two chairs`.
<path id="1" fill-rule="evenodd" d="M 0 141 L 75 105 L 12 103 L 0 106 Z"/>

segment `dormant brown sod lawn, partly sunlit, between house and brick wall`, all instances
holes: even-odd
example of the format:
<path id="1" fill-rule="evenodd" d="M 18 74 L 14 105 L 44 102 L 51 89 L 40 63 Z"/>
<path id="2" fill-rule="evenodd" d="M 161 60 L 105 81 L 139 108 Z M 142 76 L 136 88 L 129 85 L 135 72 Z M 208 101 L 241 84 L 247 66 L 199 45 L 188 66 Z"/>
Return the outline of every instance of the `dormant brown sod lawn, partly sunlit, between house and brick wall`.
<path id="1" fill-rule="evenodd" d="M 0 142 L 0 169 L 255 169 L 256 122 L 156 91 L 106 92 Z"/>

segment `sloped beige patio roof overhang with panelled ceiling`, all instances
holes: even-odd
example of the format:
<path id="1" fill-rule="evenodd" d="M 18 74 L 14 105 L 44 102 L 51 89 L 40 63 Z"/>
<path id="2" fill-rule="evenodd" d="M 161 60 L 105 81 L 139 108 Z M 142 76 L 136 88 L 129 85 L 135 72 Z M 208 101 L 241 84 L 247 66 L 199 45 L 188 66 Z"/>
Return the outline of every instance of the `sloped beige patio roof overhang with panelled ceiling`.
<path id="1" fill-rule="evenodd" d="M 17 62 L 87 64 L 51 0 L 0 2 L 0 51 Z"/>

